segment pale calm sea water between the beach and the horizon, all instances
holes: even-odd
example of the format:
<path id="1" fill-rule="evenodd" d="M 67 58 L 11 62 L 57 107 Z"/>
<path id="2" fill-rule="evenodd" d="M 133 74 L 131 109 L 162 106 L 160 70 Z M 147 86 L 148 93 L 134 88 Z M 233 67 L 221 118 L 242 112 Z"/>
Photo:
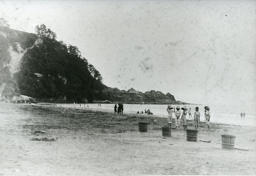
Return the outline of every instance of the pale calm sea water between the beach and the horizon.
<path id="1" fill-rule="evenodd" d="M 167 118 L 168 113 L 166 111 L 168 105 L 138 105 L 138 104 L 123 104 L 124 105 L 124 114 L 136 114 L 137 111 L 145 111 L 150 109 L 154 115 L 159 117 Z M 57 106 L 74 108 L 73 104 L 57 104 Z M 85 108 L 95 109 L 95 110 L 106 110 L 113 111 L 115 104 L 85 104 Z M 182 108 L 184 105 L 179 105 Z M 242 107 L 242 106 L 230 106 L 230 105 L 185 105 L 187 108 L 191 108 L 191 115 L 194 119 L 195 107 L 199 107 L 200 112 L 200 121 L 205 121 L 204 117 L 204 107 L 209 106 L 211 110 L 210 123 L 221 123 L 221 124 L 231 124 L 231 125 L 243 125 L 243 126 L 256 126 L 256 111 L 252 107 Z M 177 107 L 177 105 L 172 105 L 172 107 Z M 80 108 L 79 104 L 75 104 L 75 108 Z M 84 104 L 81 104 L 81 108 L 84 108 Z M 182 110 L 180 110 L 182 112 Z M 240 113 L 245 112 L 245 118 L 241 119 Z M 144 114 L 147 115 L 147 114 Z M 173 116 L 175 114 L 173 113 Z M 148 115 L 147 115 L 148 116 Z M 187 119 L 189 118 L 189 114 L 187 114 Z M 167 120 L 166 120 L 167 121 Z"/>

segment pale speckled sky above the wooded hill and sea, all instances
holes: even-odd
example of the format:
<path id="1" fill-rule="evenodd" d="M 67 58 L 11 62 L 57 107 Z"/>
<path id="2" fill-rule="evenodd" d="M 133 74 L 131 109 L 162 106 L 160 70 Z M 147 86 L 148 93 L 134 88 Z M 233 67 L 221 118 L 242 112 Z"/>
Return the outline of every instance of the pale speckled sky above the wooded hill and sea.
<path id="1" fill-rule="evenodd" d="M 11 29 L 45 24 L 109 87 L 256 108 L 255 12 L 248 0 L 0 0 Z"/>

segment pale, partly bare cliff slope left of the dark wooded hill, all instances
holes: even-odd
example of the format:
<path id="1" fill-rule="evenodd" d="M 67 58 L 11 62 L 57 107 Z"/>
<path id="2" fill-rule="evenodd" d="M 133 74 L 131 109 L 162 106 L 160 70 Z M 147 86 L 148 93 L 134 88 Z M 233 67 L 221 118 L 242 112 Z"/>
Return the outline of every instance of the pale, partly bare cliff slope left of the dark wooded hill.
<path id="1" fill-rule="evenodd" d="M 4 98 L 10 99 L 18 92 L 13 74 L 19 70 L 27 49 L 35 43 L 38 43 L 36 34 L 0 26 L 0 97 L 4 94 Z"/>

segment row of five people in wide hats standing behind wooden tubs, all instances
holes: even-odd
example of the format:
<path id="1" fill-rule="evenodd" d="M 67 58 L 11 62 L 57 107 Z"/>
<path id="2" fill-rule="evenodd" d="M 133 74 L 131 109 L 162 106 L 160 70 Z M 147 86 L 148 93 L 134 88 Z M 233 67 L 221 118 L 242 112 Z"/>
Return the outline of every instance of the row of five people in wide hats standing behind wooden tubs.
<path id="1" fill-rule="evenodd" d="M 181 113 L 180 112 L 180 109 L 183 110 L 183 112 Z M 204 107 L 205 109 L 205 120 L 206 120 L 206 124 L 208 126 L 208 129 L 210 129 L 210 108 L 209 106 L 206 106 Z M 173 108 L 171 105 L 168 105 L 167 107 L 167 112 L 168 112 L 168 127 L 171 127 L 171 121 L 172 121 L 172 113 L 174 112 L 175 113 L 175 127 L 176 129 L 180 129 L 180 121 L 182 122 L 183 124 L 183 128 L 184 130 L 187 129 L 187 107 L 184 106 L 183 108 L 180 108 L 179 106 L 176 107 L 176 111 L 175 111 L 175 108 Z M 190 115 L 191 115 L 191 108 L 189 110 L 189 118 L 190 118 Z M 192 115 L 191 115 L 192 117 Z M 198 129 L 198 124 L 199 124 L 199 121 L 200 121 L 200 112 L 199 112 L 199 108 L 196 107 L 195 108 L 195 112 L 194 112 L 194 121 L 195 121 L 195 129 L 197 130 Z"/>

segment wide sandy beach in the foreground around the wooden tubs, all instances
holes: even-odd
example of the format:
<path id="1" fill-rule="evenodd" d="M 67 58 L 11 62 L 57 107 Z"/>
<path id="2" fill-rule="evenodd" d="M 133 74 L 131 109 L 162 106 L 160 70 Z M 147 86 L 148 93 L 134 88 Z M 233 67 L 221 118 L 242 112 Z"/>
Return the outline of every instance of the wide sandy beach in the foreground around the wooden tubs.
<path id="1" fill-rule="evenodd" d="M 140 133 L 138 122 L 149 122 L 151 132 Z M 163 137 L 166 124 L 166 118 L 114 110 L 2 103 L 0 175 L 256 174 L 254 127 L 210 124 L 207 131 L 201 123 L 198 138 L 212 141 L 206 143 L 186 141 L 183 127 Z M 221 134 L 235 135 L 235 147 L 249 151 L 222 149 Z"/>

